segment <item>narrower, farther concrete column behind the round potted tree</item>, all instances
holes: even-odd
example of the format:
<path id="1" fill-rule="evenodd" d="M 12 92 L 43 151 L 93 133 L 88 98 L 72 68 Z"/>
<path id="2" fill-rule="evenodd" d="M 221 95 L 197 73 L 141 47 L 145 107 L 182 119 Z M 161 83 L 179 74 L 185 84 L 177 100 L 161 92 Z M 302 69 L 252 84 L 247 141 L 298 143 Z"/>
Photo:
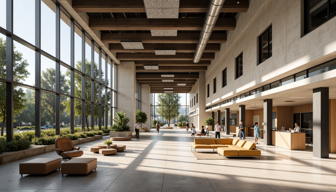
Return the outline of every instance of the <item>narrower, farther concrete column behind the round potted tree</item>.
<path id="1" fill-rule="evenodd" d="M 151 128 L 151 91 L 149 84 L 141 84 L 140 109 L 147 114 L 147 122 L 142 123 L 142 127 Z"/>

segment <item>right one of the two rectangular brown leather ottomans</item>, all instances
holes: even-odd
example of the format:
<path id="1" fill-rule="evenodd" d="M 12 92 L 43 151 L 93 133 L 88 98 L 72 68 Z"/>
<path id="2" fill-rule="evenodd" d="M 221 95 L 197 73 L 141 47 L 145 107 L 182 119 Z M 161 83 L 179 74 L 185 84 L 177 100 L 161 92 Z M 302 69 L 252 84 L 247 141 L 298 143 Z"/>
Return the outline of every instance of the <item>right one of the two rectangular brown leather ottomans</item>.
<path id="1" fill-rule="evenodd" d="M 97 158 L 74 158 L 62 163 L 61 174 L 87 175 L 97 168 Z"/>

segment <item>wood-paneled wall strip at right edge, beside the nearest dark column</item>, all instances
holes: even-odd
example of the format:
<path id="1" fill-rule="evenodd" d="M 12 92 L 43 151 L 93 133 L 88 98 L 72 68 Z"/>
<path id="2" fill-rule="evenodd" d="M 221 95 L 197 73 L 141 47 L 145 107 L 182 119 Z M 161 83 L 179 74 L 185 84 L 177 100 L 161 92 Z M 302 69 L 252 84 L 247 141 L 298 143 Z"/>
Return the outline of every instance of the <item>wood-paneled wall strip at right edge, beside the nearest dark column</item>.
<path id="1" fill-rule="evenodd" d="M 329 153 L 336 153 L 336 99 L 329 100 Z"/>

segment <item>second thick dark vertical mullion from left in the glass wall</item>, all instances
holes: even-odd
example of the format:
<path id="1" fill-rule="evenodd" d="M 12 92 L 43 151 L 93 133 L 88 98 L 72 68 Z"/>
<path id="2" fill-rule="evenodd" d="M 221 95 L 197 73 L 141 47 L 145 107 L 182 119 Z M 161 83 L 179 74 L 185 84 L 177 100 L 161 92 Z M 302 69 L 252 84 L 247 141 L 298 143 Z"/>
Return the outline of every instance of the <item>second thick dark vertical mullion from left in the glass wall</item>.
<path id="1" fill-rule="evenodd" d="M 41 1 L 35 0 L 35 46 L 41 48 Z M 41 87 L 41 54 L 35 51 L 35 86 Z M 35 89 L 35 136 L 41 136 L 41 90 Z"/>

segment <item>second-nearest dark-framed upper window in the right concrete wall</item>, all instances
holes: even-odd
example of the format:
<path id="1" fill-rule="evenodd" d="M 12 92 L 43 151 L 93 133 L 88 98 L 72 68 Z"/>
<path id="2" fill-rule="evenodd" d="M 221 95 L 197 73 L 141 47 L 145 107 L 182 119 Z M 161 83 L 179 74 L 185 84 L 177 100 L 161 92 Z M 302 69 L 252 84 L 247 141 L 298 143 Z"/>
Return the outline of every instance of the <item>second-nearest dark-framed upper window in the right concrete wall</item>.
<path id="1" fill-rule="evenodd" d="M 272 56 L 272 26 L 259 36 L 259 64 Z"/>

